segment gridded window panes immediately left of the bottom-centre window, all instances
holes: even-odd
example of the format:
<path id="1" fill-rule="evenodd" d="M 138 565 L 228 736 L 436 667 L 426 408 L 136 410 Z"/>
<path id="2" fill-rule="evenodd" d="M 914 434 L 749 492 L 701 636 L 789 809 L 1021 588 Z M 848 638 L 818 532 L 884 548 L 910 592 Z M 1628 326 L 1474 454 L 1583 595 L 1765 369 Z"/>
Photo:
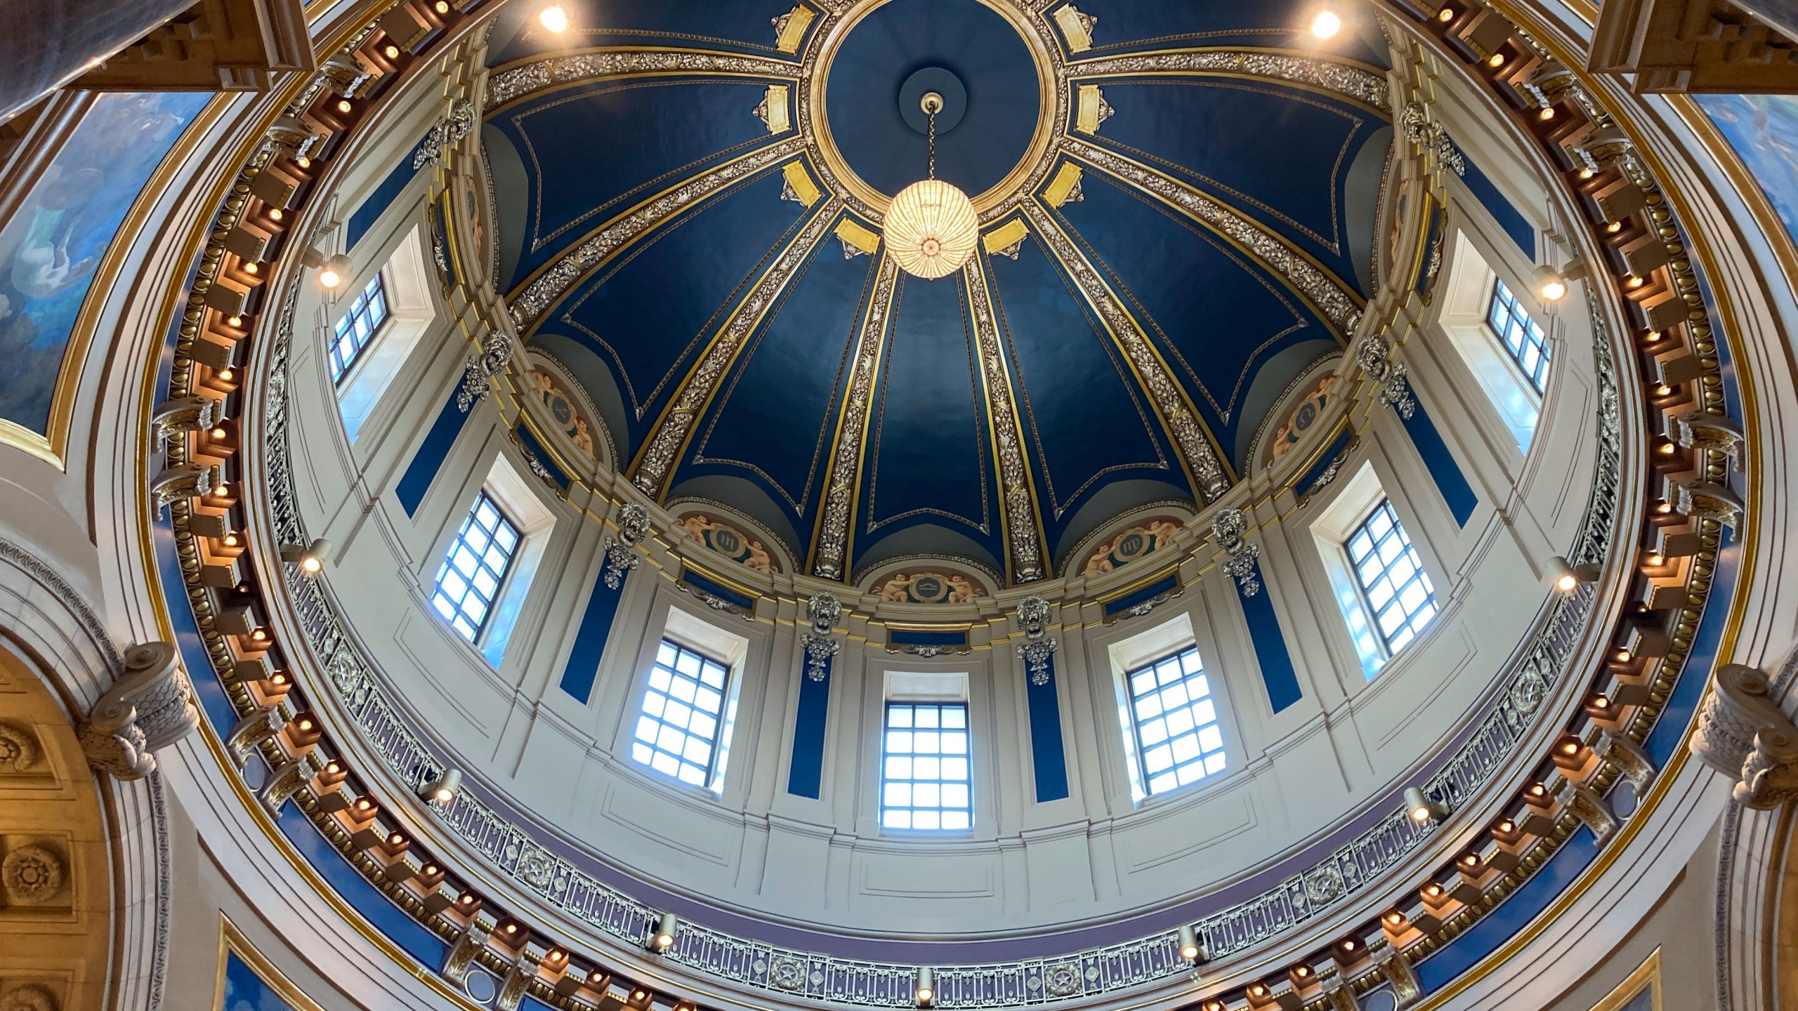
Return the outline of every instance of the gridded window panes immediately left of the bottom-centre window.
<path id="1" fill-rule="evenodd" d="M 707 786 L 728 680 L 723 662 L 663 639 L 649 667 L 631 757 L 689 786 Z"/>

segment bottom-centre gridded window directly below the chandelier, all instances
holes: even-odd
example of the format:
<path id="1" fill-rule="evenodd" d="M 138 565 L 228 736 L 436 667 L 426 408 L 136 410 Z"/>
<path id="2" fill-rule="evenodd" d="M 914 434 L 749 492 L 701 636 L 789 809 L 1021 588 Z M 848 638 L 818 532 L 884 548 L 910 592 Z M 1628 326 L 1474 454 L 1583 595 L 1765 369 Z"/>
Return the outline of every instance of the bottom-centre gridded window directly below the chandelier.
<path id="1" fill-rule="evenodd" d="M 975 824 L 966 702 L 888 702 L 881 828 L 966 831 Z"/>

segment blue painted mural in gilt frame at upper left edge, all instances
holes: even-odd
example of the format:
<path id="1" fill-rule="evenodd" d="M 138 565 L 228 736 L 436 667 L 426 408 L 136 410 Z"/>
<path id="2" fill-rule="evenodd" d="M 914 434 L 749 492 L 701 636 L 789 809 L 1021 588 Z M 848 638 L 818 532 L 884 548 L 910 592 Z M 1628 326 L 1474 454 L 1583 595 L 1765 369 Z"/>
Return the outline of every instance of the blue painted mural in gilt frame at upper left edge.
<path id="1" fill-rule="evenodd" d="M 108 92 L 0 223 L 0 417 L 49 435 L 76 317 L 137 194 L 207 94 Z"/>

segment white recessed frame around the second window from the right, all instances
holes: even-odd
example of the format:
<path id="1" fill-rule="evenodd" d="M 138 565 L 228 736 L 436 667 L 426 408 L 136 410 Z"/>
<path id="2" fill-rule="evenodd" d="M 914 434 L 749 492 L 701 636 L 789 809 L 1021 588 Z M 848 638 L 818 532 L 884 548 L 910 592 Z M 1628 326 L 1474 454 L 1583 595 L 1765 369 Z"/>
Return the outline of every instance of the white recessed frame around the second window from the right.
<path id="1" fill-rule="evenodd" d="M 1313 520 L 1311 536 L 1316 541 L 1323 570 L 1329 574 L 1331 595 L 1336 599 L 1336 606 L 1343 615 L 1343 631 L 1348 635 L 1350 646 L 1361 660 L 1361 675 L 1366 680 L 1374 680 L 1388 660 L 1406 649 L 1415 649 L 1417 644 L 1428 637 L 1429 630 L 1438 626 L 1437 619 L 1442 617 L 1444 601 L 1437 586 L 1446 586 L 1447 583 L 1442 581 L 1440 572 L 1433 572 L 1429 568 L 1429 554 L 1417 540 L 1420 532 L 1417 523 L 1404 522 L 1404 509 L 1401 507 L 1399 498 L 1386 493 L 1379 475 L 1374 471 L 1372 461 L 1363 462 L 1348 480 L 1338 479 L 1338 484 L 1341 486 L 1341 491 L 1331 500 L 1323 513 Z M 1411 541 L 1411 550 L 1417 552 L 1419 565 L 1429 577 L 1431 595 L 1437 604 L 1437 613 L 1424 631 L 1419 631 L 1397 653 L 1386 648 L 1386 639 L 1375 624 L 1374 610 L 1366 603 L 1366 595 L 1361 590 L 1361 579 L 1354 572 L 1347 547 L 1348 538 L 1361 527 L 1374 509 L 1386 500 L 1392 502 L 1393 516 L 1399 518 L 1399 525 Z"/>

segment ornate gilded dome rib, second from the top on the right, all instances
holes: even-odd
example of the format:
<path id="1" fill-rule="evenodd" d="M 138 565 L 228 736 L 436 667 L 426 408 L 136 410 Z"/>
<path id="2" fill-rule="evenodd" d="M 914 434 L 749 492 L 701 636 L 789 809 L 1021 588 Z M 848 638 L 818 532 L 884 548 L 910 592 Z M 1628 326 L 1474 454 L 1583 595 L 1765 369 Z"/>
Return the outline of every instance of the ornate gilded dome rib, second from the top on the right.
<path id="1" fill-rule="evenodd" d="M 1334 272 L 1325 268 L 1313 255 L 1262 228 L 1259 223 L 1237 214 L 1230 207 L 1224 207 L 1221 201 L 1192 189 L 1190 185 L 1172 180 L 1122 155 L 1113 155 L 1104 148 L 1070 137 L 1063 140 L 1063 149 L 1088 166 L 1106 171 L 1162 200 L 1174 210 L 1179 210 L 1187 218 L 1212 228 L 1239 250 L 1255 257 L 1262 266 L 1273 272 L 1275 277 L 1286 281 L 1293 291 L 1311 302 L 1318 315 L 1323 317 L 1327 324 L 1336 327 L 1338 336 L 1347 338 L 1354 333 L 1356 324 L 1361 322 L 1361 309 L 1366 306 L 1366 300 L 1354 288 L 1345 284 Z"/>

